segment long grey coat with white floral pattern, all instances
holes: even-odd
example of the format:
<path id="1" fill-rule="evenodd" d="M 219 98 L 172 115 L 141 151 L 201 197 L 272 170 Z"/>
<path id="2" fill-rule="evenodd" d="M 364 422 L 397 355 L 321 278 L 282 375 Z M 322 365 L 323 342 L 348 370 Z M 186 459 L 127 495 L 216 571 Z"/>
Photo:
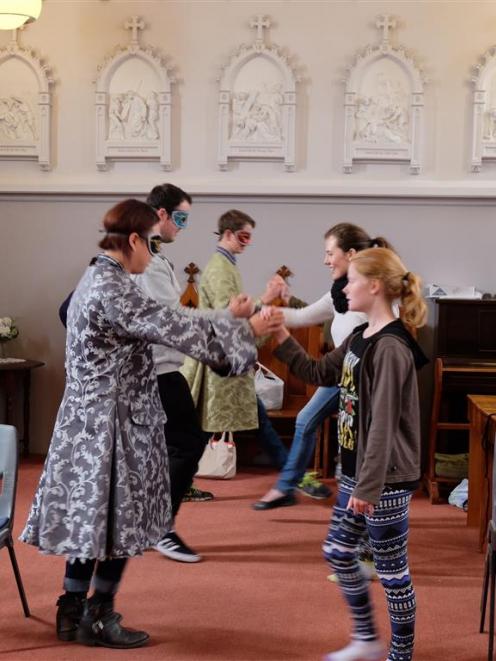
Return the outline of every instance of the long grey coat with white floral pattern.
<path id="1" fill-rule="evenodd" d="M 158 305 L 105 255 L 74 292 L 67 328 L 65 392 L 21 539 L 68 559 L 134 556 L 171 517 L 151 345 L 238 375 L 255 339 L 246 321 Z"/>

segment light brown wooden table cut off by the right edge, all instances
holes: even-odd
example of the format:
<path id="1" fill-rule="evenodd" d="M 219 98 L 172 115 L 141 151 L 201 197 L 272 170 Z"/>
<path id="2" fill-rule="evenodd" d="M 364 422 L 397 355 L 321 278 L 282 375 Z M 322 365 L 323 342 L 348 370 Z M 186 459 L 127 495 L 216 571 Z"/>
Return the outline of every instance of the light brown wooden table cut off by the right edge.
<path id="1" fill-rule="evenodd" d="M 479 528 L 479 550 L 482 551 L 492 510 L 496 395 L 468 395 L 467 399 L 470 420 L 467 525 Z M 489 442 L 484 448 L 486 424 Z"/>

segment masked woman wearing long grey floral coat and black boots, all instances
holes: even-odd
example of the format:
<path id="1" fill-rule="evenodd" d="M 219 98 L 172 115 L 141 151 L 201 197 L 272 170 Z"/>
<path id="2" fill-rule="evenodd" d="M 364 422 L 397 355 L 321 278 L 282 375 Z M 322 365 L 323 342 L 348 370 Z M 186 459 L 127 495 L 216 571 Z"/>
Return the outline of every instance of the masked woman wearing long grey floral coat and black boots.
<path id="1" fill-rule="evenodd" d="M 258 315 L 249 323 L 234 319 L 249 316 L 247 297 L 215 316 L 147 298 L 129 274 L 143 272 L 160 249 L 157 221 L 138 200 L 117 204 L 104 218 L 104 252 L 69 306 L 65 392 L 21 536 L 66 557 L 57 635 L 87 645 L 129 648 L 148 639 L 121 626 L 113 596 L 127 558 L 162 539 L 171 516 L 151 345 L 175 347 L 232 376 L 255 362 L 254 333 L 270 332 Z"/>

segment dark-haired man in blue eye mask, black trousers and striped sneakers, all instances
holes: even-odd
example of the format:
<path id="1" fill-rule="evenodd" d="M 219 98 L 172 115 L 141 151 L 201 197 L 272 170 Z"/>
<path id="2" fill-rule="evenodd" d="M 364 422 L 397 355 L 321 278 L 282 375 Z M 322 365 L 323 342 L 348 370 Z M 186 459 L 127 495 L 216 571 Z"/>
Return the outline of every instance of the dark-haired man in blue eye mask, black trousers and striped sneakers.
<path id="1" fill-rule="evenodd" d="M 160 219 L 162 243 L 172 243 L 188 223 L 192 199 L 173 184 L 155 186 L 147 198 Z M 172 263 L 155 254 L 146 271 L 134 276 L 136 284 L 151 298 L 164 305 L 181 305 L 181 290 Z M 183 500 L 211 500 L 213 495 L 192 486 L 193 476 L 203 454 L 208 434 L 198 422 L 198 414 L 186 379 L 179 372 L 184 355 L 175 349 L 153 347 L 162 406 L 167 416 L 165 438 L 169 453 L 172 512 L 174 519 Z M 201 556 L 191 549 L 174 528 L 155 547 L 162 555 L 179 562 L 198 562 Z"/>

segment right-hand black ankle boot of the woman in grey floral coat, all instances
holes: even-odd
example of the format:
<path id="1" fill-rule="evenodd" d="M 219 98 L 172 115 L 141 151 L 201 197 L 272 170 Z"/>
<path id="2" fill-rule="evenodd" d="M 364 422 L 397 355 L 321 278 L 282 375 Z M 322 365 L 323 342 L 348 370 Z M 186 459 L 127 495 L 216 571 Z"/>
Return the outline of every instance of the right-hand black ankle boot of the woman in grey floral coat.
<path id="1" fill-rule="evenodd" d="M 79 622 L 76 640 L 82 645 L 98 645 L 115 649 L 142 647 L 150 636 L 146 631 L 133 631 L 120 625 L 120 615 L 113 603 L 95 602 L 88 599 Z"/>

